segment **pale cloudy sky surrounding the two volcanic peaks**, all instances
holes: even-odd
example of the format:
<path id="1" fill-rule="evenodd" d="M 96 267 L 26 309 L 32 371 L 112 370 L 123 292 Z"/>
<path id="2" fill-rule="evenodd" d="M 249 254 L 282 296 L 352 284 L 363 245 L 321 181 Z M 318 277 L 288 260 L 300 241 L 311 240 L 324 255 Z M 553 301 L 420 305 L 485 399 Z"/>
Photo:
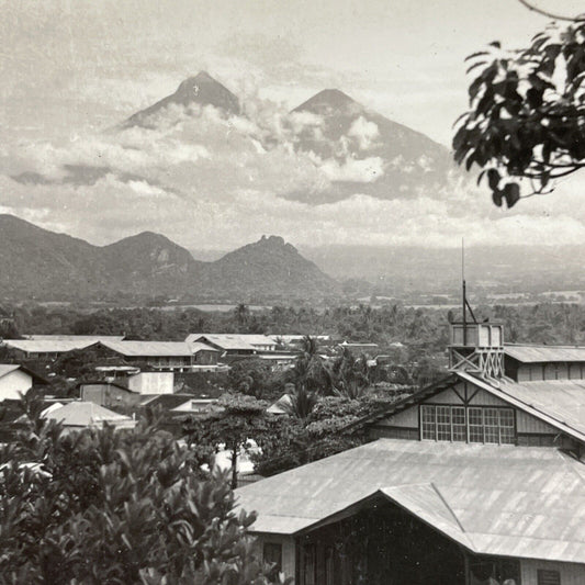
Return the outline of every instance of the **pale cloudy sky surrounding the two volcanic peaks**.
<path id="1" fill-rule="evenodd" d="M 496 38 L 526 45 L 547 22 L 517 0 L 0 0 L 0 212 L 99 245 L 144 229 L 190 249 L 262 234 L 302 246 L 583 241 L 578 178 L 513 211 L 460 184 L 412 199 L 373 198 L 359 181 L 336 202 L 284 196 L 331 180 L 329 162 L 281 137 L 288 110 L 338 88 L 448 146 L 466 108 L 465 56 Z M 200 70 L 251 120 L 226 128 L 203 112 L 179 128 L 104 133 Z M 92 184 L 65 179 L 67 165 L 104 160 L 116 171 Z M 15 181 L 23 172 L 47 180 Z"/>

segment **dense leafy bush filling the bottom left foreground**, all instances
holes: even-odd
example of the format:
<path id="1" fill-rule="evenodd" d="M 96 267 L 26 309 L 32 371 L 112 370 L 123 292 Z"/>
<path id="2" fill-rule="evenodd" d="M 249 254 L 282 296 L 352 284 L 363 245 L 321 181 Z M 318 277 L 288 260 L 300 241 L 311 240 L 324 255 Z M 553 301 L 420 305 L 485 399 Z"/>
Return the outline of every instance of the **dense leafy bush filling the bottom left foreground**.
<path id="1" fill-rule="evenodd" d="M 270 583 L 254 515 L 156 425 L 67 434 L 23 407 L 29 429 L 0 449 L 2 583 Z"/>

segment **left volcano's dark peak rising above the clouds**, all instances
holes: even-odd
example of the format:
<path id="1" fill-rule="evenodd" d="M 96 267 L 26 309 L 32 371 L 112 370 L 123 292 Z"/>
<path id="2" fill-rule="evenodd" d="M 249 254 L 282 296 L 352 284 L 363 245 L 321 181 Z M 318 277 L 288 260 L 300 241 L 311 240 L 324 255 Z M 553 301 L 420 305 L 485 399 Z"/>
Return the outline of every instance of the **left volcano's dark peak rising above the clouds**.
<path id="1" fill-rule="evenodd" d="M 200 71 L 181 82 L 177 91 L 155 104 L 130 116 L 123 126 L 150 127 L 156 124 L 159 113 L 172 105 L 189 108 L 192 105 L 213 105 L 226 114 L 240 112 L 239 100 L 225 86 L 216 81 L 206 71 Z"/>

